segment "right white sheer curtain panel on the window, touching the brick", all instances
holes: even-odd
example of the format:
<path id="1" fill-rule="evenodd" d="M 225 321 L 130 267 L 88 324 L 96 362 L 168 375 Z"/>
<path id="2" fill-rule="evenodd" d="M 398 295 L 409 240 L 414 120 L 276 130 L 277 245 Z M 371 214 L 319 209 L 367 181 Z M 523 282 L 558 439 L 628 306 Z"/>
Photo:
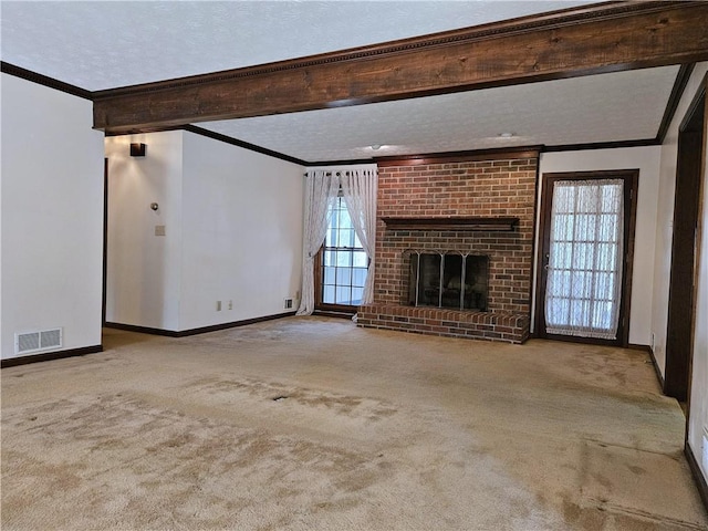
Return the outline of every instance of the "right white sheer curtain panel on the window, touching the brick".
<path id="1" fill-rule="evenodd" d="M 376 168 L 352 169 L 342 173 L 342 195 L 352 218 L 354 231 L 368 258 L 368 272 L 364 283 L 362 304 L 374 300 L 374 249 L 376 247 Z"/>

